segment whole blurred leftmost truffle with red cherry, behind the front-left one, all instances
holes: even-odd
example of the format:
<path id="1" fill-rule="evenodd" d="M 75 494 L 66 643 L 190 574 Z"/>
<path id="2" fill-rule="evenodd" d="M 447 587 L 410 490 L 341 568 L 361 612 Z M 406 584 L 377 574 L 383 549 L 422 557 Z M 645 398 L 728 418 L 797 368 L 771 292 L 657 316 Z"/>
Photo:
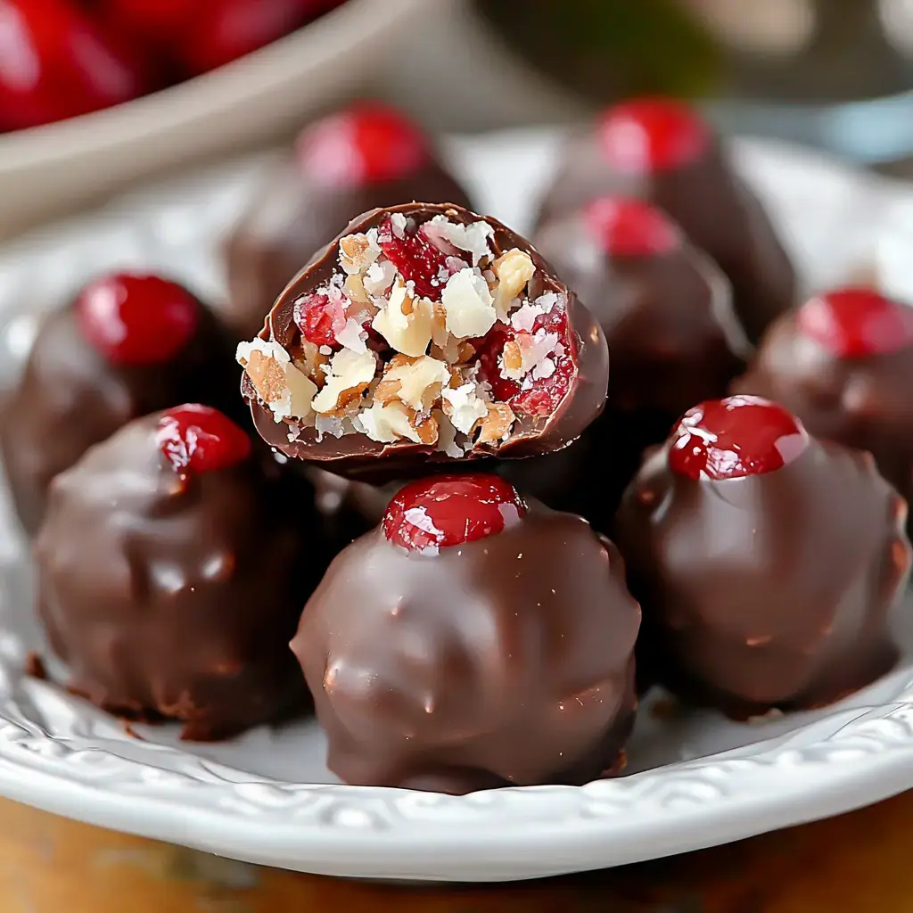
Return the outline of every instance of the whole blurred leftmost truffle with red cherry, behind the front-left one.
<path id="1" fill-rule="evenodd" d="M 240 415 L 228 337 L 186 289 L 157 276 L 90 282 L 38 331 L 4 404 L 0 451 L 23 527 L 47 486 L 93 444 L 156 409 L 199 400 Z"/>

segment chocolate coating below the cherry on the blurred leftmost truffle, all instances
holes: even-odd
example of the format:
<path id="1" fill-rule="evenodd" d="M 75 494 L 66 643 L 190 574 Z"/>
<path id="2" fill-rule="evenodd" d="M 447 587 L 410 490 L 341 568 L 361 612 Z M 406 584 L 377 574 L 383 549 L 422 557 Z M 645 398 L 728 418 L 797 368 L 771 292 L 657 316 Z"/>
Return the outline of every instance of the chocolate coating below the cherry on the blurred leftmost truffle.
<path id="1" fill-rule="evenodd" d="M 239 415 L 238 369 L 202 305 L 194 337 L 173 358 L 115 365 L 79 331 L 72 305 L 47 317 L 0 416 L 0 452 L 19 519 L 34 534 L 51 479 L 131 419 L 184 402 Z"/>

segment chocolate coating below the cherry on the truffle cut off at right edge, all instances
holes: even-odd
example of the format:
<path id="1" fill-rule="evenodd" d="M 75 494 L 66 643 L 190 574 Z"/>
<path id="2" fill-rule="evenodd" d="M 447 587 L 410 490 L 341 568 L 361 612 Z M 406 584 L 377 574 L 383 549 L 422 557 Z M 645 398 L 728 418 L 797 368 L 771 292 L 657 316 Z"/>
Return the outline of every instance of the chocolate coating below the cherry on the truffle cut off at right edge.
<path id="1" fill-rule="evenodd" d="M 913 501 L 913 347 L 839 358 L 803 335 L 790 311 L 732 388 L 782 403 L 815 436 L 869 451 Z"/>

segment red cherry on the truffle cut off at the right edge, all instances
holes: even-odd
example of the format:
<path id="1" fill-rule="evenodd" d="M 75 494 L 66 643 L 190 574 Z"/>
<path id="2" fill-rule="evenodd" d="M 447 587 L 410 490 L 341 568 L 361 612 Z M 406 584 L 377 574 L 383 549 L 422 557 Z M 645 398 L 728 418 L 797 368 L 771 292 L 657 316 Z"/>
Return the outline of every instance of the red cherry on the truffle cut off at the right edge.
<path id="1" fill-rule="evenodd" d="M 865 358 L 913 345 L 913 308 L 872 289 L 838 289 L 806 301 L 799 330 L 838 358 Z"/>

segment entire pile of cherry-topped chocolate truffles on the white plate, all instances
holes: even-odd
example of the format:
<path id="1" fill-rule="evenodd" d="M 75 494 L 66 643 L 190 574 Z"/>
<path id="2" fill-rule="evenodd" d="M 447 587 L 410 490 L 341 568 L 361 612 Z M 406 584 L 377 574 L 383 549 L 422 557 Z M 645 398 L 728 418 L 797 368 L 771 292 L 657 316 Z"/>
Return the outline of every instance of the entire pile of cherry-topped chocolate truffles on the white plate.
<path id="1" fill-rule="evenodd" d="M 115 276 L 47 321 L 0 444 L 71 689 L 188 739 L 312 700 L 344 781 L 463 793 L 622 771 L 653 683 L 742 719 L 885 673 L 913 311 L 794 308 L 672 101 L 569 142 L 535 246 L 467 202 L 356 105 L 268 175 L 215 312 Z"/>

